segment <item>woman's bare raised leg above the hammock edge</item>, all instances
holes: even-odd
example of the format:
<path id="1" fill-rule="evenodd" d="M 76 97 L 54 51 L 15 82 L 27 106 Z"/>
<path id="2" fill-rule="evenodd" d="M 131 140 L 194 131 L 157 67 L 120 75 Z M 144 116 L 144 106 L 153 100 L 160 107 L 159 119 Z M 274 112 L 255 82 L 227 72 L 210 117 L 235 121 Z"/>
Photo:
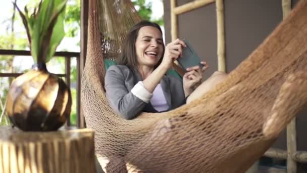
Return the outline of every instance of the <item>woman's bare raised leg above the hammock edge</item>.
<path id="1" fill-rule="evenodd" d="M 225 80 L 227 73 L 216 71 L 207 80 L 203 81 L 187 98 L 186 103 L 189 103 L 203 94 L 207 93 L 209 90 L 213 89 L 218 83 Z"/>

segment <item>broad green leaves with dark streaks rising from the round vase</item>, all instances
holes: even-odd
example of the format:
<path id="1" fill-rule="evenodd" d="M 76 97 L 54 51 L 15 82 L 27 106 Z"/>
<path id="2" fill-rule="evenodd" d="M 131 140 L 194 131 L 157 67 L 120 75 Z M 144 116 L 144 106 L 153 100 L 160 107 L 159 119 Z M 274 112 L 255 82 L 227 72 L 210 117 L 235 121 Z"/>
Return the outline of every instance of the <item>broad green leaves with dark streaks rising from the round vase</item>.
<path id="1" fill-rule="evenodd" d="M 27 6 L 22 13 L 16 4 L 25 26 L 31 55 L 34 62 L 48 62 L 62 41 L 64 32 L 64 14 L 67 0 L 44 0 L 34 8 L 31 15 Z"/>

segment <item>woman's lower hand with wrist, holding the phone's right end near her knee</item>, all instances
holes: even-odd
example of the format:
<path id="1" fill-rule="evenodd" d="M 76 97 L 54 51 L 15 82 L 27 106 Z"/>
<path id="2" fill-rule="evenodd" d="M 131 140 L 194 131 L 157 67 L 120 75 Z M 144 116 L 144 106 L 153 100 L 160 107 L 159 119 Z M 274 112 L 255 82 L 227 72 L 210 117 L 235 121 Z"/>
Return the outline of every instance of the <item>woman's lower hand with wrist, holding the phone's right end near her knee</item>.
<path id="1" fill-rule="evenodd" d="M 198 65 L 189 67 L 186 69 L 186 73 L 183 76 L 183 90 L 184 95 L 187 97 L 201 84 L 202 73 L 209 68 L 206 62 L 200 62 L 203 67 L 200 68 Z"/>

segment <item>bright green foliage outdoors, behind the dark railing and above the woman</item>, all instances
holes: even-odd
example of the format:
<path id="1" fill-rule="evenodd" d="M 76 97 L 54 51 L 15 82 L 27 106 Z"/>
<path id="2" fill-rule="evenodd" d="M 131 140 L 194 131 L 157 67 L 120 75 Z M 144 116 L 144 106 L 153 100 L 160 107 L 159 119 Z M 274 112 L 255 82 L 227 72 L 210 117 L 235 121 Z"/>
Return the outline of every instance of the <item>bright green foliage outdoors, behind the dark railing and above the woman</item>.
<path id="1" fill-rule="evenodd" d="M 14 0 L 14 2 L 17 3 L 18 1 L 22 0 Z M 152 1 L 162 1 L 162 0 L 152 0 Z M 33 7 L 35 7 L 39 3 L 39 0 L 32 0 L 28 3 L 28 9 L 29 11 L 33 10 Z M 152 4 L 146 3 L 145 0 L 132 0 L 132 3 L 135 5 L 138 14 L 141 16 L 143 20 L 149 20 L 152 22 L 156 22 L 159 25 L 163 26 L 163 18 L 160 19 L 152 19 Z M 6 50 L 28 50 L 28 40 L 26 37 L 25 30 L 23 32 L 16 32 L 14 30 L 14 27 L 23 27 L 21 18 L 17 14 L 17 12 L 14 10 L 13 5 L 12 7 L 12 18 L 11 19 L 5 19 L 6 21 L 10 21 L 12 24 L 7 24 L 7 32 L 4 35 L 0 35 L 0 49 L 6 49 Z M 21 9 L 23 9 L 21 7 Z M 66 6 L 66 13 L 65 13 L 65 31 L 66 31 L 66 37 L 76 37 L 78 36 L 78 33 L 80 31 L 80 0 L 68 0 L 67 6 Z M 14 15 L 15 14 L 15 15 Z M 5 24 L 2 24 L 4 26 Z M 77 46 L 80 46 L 80 41 L 74 43 Z M 61 50 L 61 51 L 67 51 L 67 50 Z M 13 66 L 14 56 L 0 56 L 0 72 L 1 73 L 16 73 L 21 72 L 20 69 L 16 66 Z M 71 93 L 73 98 L 73 104 L 72 104 L 72 112 L 71 112 L 71 123 L 76 124 L 77 118 L 76 118 L 76 88 L 75 83 L 77 81 L 77 67 L 76 67 L 76 59 L 73 58 L 71 60 Z M 64 57 L 55 57 L 51 59 L 47 63 L 48 66 L 57 66 L 58 70 L 54 73 L 65 73 L 65 59 Z M 25 71 L 22 71 L 25 72 Z M 64 79 L 64 78 L 63 78 Z M 2 107 L 5 104 L 6 95 L 8 92 L 8 88 L 10 83 L 12 82 L 13 78 L 10 77 L 0 77 L 0 115 L 2 114 L 3 110 Z M 0 124 L 7 124 L 8 119 L 3 118 Z"/>

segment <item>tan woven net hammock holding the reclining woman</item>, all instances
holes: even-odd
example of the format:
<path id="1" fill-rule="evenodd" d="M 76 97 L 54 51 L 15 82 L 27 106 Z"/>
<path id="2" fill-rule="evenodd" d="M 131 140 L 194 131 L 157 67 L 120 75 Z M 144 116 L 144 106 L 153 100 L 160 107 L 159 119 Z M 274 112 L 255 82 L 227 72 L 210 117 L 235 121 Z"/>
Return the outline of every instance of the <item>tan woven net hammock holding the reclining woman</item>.
<path id="1" fill-rule="evenodd" d="M 130 1 L 89 3 L 82 110 L 106 172 L 245 172 L 306 106 L 306 0 L 200 99 L 125 120 L 105 97 L 104 58 L 138 21 Z"/>

